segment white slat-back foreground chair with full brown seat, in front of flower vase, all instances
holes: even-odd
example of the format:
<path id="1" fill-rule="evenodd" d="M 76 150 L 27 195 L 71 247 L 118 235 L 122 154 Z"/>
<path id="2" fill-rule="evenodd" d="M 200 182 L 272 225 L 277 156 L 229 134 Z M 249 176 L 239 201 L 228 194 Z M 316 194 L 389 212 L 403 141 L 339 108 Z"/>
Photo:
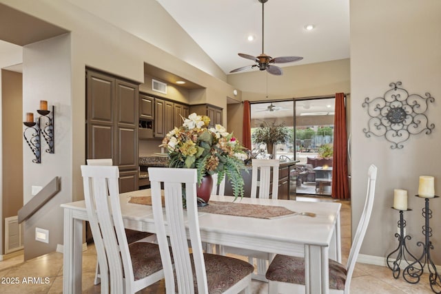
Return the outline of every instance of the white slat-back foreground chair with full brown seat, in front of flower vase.
<path id="1" fill-rule="evenodd" d="M 196 169 L 150 167 L 148 172 L 167 294 L 175 293 L 175 290 L 182 294 L 192 294 L 195 291 L 198 294 L 239 293 L 245 290 L 245 293 L 251 294 L 251 264 L 236 258 L 203 253 L 196 203 Z M 165 216 L 161 183 L 164 187 Z M 173 257 L 170 255 L 167 235 L 170 235 Z"/>

